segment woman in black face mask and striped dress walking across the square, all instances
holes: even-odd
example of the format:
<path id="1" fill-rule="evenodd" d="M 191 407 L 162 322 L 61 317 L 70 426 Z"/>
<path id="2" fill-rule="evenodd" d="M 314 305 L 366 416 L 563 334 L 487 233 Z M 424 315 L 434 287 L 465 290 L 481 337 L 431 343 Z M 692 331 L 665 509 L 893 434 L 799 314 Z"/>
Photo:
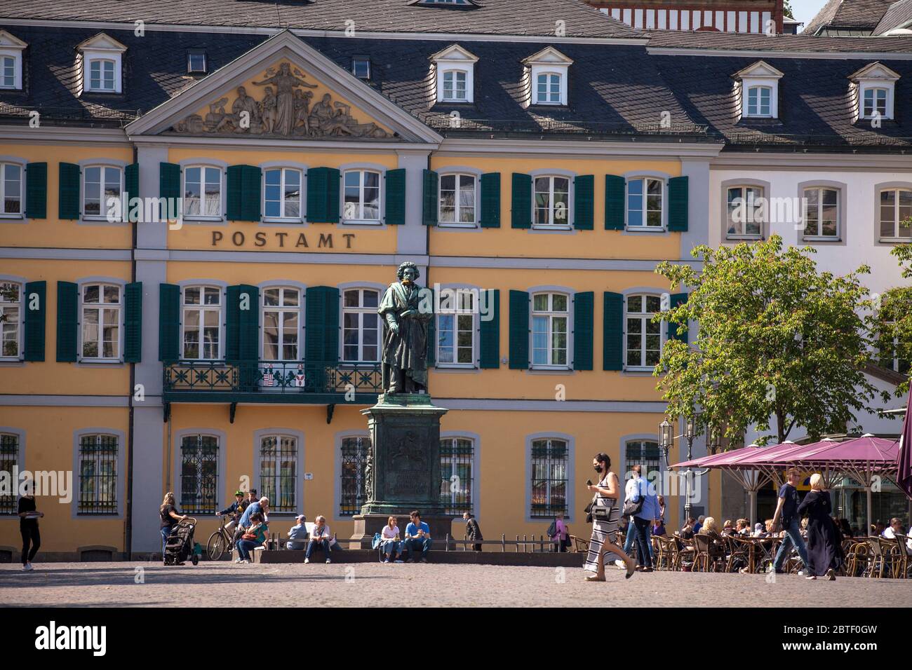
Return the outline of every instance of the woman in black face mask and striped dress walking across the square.
<path id="1" fill-rule="evenodd" d="M 595 492 L 592 500 L 592 537 L 589 539 L 589 553 L 586 555 L 586 565 L 583 569 L 590 574 L 586 575 L 586 582 L 605 581 L 605 552 L 611 551 L 617 555 L 627 566 L 627 579 L 634 573 L 633 559 L 627 556 L 617 546 L 617 499 L 620 496 L 620 484 L 617 475 L 611 472 L 611 459 L 607 454 L 596 454 L 592 459 L 592 467 L 596 469 L 599 482 L 589 484 L 587 488 Z"/>

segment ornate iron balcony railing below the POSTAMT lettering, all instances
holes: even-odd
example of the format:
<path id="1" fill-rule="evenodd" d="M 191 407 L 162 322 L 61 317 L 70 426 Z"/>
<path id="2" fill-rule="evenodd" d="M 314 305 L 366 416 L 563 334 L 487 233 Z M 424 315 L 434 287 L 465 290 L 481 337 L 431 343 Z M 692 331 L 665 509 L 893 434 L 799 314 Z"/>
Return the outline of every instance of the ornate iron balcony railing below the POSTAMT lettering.
<path id="1" fill-rule="evenodd" d="M 373 403 L 379 363 L 176 361 L 164 365 L 167 402 Z"/>

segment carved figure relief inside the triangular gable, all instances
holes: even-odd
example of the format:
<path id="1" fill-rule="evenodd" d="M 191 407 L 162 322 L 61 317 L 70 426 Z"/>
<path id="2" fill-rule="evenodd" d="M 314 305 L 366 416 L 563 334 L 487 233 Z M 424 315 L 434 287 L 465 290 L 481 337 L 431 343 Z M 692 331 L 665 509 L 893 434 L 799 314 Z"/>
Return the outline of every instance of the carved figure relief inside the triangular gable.
<path id="1" fill-rule="evenodd" d="M 359 123 L 351 115 L 351 106 L 334 101 L 325 93 L 311 106 L 316 84 L 306 81 L 306 75 L 287 63 L 278 69 L 270 67 L 262 81 L 254 86 L 263 87 L 257 100 L 247 88 L 237 88 L 237 98 L 231 110 L 225 108 L 228 98 L 221 98 L 209 105 L 205 118 L 192 114 L 172 126 L 174 132 L 202 135 L 270 135 L 279 137 L 327 138 L 353 137 L 389 139 L 392 136 L 376 123 Z M 259 92 L 257 89 L 254 92 Z"/>

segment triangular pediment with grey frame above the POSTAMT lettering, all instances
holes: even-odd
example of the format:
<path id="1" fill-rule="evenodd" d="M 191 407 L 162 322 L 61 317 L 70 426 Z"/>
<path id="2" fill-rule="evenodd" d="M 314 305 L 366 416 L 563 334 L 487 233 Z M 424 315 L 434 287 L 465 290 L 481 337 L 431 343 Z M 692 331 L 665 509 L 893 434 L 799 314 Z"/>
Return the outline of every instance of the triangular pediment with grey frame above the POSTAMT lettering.
<path id="1" fill-rule="evenodd" d="M 440 142 L 408 112 L 289 31 L 127 126 L 135 135 Z"/>

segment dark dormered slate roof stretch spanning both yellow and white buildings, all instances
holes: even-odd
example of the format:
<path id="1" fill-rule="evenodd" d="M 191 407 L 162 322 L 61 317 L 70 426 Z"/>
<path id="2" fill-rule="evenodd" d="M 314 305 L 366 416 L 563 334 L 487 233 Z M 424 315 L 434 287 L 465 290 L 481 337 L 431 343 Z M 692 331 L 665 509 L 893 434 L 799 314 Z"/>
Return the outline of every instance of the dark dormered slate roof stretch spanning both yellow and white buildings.
<path id="1" fill-rule="evenodd" d="M 317 0 L 318 2 L 320 0 Z M 486 0 L 491 2 L 492 0 Z M 145 36 L 132 30 L 105 32 L 128 46 L 123 58 L 122 95 L 76 95 L 76 46 L 98 33 L 96 28 L 11 26 L 28 43 L 25 90 L 0 91 L 0 122 L 24 123 L 30 109 L 39 109 L 50 124 L 123 126 L 176 96 L 198 77 L 186 74 L 186 50 L 204 48 L 210 72 L 224 67 L 268 38 L 242 32 L 156 31 Z M 846 57 L 846 52 L 912 52 L 912 37 L 752 36 L 716 33 L 653 33 L 648 46 L 630 44 L 554 44 L 574 60 L 569 73 L 567 107 L 523 107 L 523 58 L 549 46 L 542 41 L 464 41 L 479 57 L 475 69 L 475 102 L 434 103 L 430 56 L 451 42 L 339 36 L 301 37 L 340 67 L 353 56 L 371 59 L 369 86 L 415 118 L 445 136 L 489 138 L 541 137 L 631 140 L 637 137 L 677 141 L 721 141 L 728 149 L 760 147 L 776 150 L 899 150 L 912 145 L 912 59 Z M 833 58 L 802 57 L 811 46 Z M 654 53 L 676 47 L 681 53 Z M 734 51 L 772 50 L 761 56 L 720 55 Z M 793 56 L 775 52 L 792 52 Z M 780 69 L 780 117 L 738 121 L 731 76 L 759 58 Z M 880 60 L 900 74 L 896 82 L 896 120 L 880 129 L 852 122 L 846 77 Z M 451 128 L 457 109 L 460 129 Z M 660 128 L 662 113 L 672 126 Z"/>

